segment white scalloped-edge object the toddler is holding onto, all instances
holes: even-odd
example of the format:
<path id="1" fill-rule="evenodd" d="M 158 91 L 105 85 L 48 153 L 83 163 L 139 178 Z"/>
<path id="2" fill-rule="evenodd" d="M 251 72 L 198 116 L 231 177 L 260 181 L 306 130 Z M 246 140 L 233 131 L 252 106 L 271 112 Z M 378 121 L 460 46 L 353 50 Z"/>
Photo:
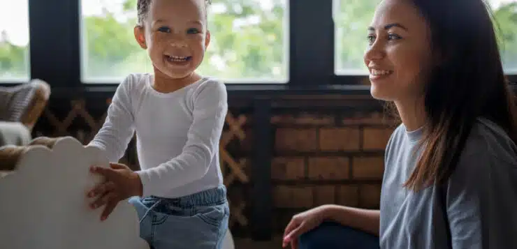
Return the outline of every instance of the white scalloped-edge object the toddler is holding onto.
<path id="1" fill-rule="evenodd" d="M 127 201 L 105 221 L 102 209 L 89 209 L 85 193 L 101 180 L 90 165 L 108 167 L 108 158 L 73 137 L 23 153 L 15 171 L 0 177 L 0 248 L 149 249 Z"/>

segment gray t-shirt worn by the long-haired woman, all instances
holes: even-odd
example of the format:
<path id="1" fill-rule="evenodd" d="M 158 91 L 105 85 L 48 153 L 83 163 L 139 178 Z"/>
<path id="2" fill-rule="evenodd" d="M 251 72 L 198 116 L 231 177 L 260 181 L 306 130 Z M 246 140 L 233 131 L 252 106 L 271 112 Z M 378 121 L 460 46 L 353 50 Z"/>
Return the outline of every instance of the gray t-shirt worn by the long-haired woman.
<path id="1" fill-rule="evenodd" d="M 416 164 L 412 153 L 421 136 L 421 129 L 407 132 L 401 125 L 386 147 L 381 248 L 449 248 L 445 206 L 453 249 L 517 248 L 516 144 L 495 123 L 478 119 L 446 188 L 414 193 L 402 185 Z"/>

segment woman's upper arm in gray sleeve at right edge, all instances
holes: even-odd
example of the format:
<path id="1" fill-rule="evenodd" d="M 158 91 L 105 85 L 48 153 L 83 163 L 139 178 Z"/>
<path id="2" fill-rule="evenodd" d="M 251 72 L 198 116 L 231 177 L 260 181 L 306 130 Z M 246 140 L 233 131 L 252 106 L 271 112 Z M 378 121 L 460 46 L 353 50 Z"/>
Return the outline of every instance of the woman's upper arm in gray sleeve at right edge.
<path id="1" fill-rule="evenodd" d="M 488 142 L 465 147 L 444 191 L 453 249 L 517 248 L 515 153 Z"/>

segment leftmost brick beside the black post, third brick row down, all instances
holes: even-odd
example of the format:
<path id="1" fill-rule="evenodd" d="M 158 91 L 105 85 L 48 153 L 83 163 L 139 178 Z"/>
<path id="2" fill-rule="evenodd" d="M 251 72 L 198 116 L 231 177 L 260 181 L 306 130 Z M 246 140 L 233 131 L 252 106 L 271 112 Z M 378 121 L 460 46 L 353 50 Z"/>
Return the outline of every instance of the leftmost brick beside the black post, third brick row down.
<path id="1" fill-rule="evenodd" d="M 271 165 L 272 179 L 296 180 L 305 178 L 305 158 L 274 158 Z"/>

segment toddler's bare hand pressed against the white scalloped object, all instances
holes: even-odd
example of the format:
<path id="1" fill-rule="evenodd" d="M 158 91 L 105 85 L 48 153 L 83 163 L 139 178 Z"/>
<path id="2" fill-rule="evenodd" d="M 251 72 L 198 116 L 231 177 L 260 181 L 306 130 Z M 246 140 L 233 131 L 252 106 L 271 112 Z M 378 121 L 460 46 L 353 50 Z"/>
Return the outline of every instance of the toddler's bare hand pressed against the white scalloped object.
<path id="1" fill-rule="evenodd" d="M 104 176 L 105 179 L 87 193 L 88 197 L 98 197 L 90 204 L 92 209 L 105 205 L 101 220 L 108 218 L 121 200 L 142 195 L 140 177 L 126 165 L 110 163 L 110 168 L 94 166 L 90 170 L 94 174 Z"/>

